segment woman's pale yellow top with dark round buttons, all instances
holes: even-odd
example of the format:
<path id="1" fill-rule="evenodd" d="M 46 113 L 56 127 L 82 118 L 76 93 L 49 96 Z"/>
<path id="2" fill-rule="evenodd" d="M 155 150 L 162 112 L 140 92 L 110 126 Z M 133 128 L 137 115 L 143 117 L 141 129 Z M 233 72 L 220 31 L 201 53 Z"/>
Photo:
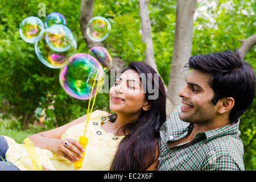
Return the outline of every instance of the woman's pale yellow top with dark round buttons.
<path id="1" fill-rule="evenodd" d="M 85 148 L 85 156 L 82 161 L 82 167 L 76 169 L 73 163 L 56 155 L 50 150 L 35 147 L 39 155 L 39 162 L 50 170 L 109 170 L 114 159 L 115 151 L 119 142 L 124 136 L 116 136 L 112 133 L 106 133 L 101 129 L 101 123 L 109 121 L 109 113 L 106 111 L 96 110 L 90 115 L 85 137 L 88 137 L 88 144 Z M 84 135 L 86 121 L 70 127 L 61 137 L 61 139 L 72 138 L 79 140 Z M 5 137 L 9 148 L 6 152 L 7 161 L 13 163 L 20 170 L 33 170 L 34 167 L 24 144 L 16 143 L 10 137 Z"/>

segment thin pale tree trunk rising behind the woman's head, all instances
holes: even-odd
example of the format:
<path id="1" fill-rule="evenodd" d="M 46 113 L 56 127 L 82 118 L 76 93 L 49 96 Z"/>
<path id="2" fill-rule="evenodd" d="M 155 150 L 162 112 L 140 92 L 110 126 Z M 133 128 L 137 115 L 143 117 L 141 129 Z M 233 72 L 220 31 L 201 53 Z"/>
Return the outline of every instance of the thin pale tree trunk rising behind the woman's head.
<path id="1" fill-rule="evenodd" d="M 151 38 L 151 24 L 148 13 L 149 0 L 139 0 L 139 15 L 141 16 L 142 41 L 146 44 L 145 62 L 158 72 L 154 59 L 154 48 Z"/>

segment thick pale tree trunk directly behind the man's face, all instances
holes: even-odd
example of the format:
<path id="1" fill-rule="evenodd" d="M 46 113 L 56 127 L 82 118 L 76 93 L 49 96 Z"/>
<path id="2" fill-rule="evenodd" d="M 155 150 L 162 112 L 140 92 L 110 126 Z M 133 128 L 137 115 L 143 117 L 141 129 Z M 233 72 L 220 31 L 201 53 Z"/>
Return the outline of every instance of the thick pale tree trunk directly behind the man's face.
<path id="1" fill-rule="evenodd" d="M 170 114 L 176 106 L 181 104 L 178 96 L 179 90 L 186 84 L 185 79 L 188 72 L 184 70 L 184 65 L 191 57 L 193 38 L 193 16 L 196 10 L 196 0 L 177 0 L 176 23 L 174 35 L 174 51 L 172 53 L 172 64 L 170 81 L 167 92 L 167 110 Z"/>

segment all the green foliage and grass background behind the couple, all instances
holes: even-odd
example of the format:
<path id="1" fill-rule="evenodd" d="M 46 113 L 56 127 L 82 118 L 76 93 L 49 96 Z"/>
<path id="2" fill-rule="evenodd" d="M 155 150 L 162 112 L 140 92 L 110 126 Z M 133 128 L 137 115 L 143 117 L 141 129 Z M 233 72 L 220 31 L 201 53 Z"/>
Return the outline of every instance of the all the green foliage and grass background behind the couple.
<path id="1" fill-rule="evenodd" d="M 80 30 L 81 1 L 2 0 L 0 2 L 0 135 L 21 143 L 33 133 L 64 125 L 86 114 L 88 101 L 70 97 L 59 84 L 59 69 L 44 66 L 37 59 L 34 45 L 19 36 L 19 23 L 27 16 L 38 16 L 39 3 L 46 5 L 46 15 L 60 12 L 77 41 L 77 52 L 88 47 Z M 192 55 L 239 48 L 238 39 L 255 34 L 255 1 L 197 1 L 194 18 Z M 158 71 L 167 85 L 169 80 L 176 1 L 151 0 L 150 19 L 154 56 Z M 143 61 L 146 46 L 141 39 L 139 3 L 136 0 L 94 1 L 93 16 L 104 16 L 112 25 L 104 40 L 110 55 L 126 64 Z M 39 17 L 43 20 L 45 17 Z M 245 61 L 256 70 L 255 46 Z M 245 93 L 246 94 L 246 93 Z M 109 110 L 109 97 L 98 94 L 94 110 Z M 256 169 L 256 101 L 242 115 L 240 131 L 245 147 L 246 170 Z"/>

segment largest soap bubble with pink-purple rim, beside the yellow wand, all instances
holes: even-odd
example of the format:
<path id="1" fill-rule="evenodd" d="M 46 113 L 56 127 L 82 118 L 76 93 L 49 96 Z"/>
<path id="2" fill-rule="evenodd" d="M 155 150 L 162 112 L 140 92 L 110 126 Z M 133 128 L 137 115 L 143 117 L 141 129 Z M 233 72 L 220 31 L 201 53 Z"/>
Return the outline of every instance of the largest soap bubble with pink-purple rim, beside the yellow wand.
<path id="1" fill-rule="evenodd" d="M 89 100 L 97 72 L 97 81 L 102 85 L 104 71 L 101 64 L 89 54 L 76 53 L 69 57 L 68 64 L 61 68 L 60 85 L 69 96 L 79 100 Z M 94 84 L 92 97 L 96 94 L 97 81 Z"/>

